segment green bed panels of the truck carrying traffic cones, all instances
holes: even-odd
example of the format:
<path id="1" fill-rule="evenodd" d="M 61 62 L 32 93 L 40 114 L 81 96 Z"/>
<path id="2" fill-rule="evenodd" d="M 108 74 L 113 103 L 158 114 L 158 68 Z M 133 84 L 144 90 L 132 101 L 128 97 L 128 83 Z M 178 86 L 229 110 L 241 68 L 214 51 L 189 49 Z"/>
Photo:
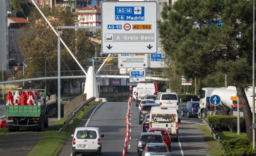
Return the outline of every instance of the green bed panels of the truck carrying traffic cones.
<path id="1" fill-rule="evenodd" d="M 40 117 L 46 112 L 44 105 L 5 105 L 6 117 Z"/>

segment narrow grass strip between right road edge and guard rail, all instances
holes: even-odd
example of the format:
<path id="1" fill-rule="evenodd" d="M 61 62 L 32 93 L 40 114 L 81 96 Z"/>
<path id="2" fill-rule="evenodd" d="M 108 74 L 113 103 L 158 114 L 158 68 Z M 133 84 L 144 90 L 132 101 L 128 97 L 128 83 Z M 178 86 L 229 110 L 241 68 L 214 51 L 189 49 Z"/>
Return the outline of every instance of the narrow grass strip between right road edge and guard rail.
<path id="1" fill-rule="evenodd" d="M 206 149 L 206 152 L 209 155 L 213 155 L 213 156 L 223 156 L 222 150 L 219 148 L 217 142 L 214 140 L 208 128 L 205 125 L 200 125 L 199 128 L 202 129 L 204 133 L 205 141 L 210 146 L 210 148 Z"/>

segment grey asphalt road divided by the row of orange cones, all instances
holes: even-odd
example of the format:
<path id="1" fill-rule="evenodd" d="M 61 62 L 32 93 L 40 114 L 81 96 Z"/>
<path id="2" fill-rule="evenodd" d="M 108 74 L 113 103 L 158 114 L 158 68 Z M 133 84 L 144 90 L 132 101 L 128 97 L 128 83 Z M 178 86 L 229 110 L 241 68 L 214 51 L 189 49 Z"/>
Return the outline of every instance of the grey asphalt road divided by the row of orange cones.
<path id="1" fill-rule="evenodd" d="M 197 127 L 202 123 L 202 120 L 193 117 L 187 118 L 181 117 L 180 112 L 182 105 L 179 105 L 179 142 L 172 142 L 171 152 L 172 156 L 205 156 L 206 148 L 209 146 L 205 143 L 202 131 Z M 116 156 L 122 155 L 123 145 L 125 141 L 126 130 L 126 112 L 127 102 L 102 102 L 96 108 L 92 108 L 84 120 L 82 120 L 77 127 L 87 126 L 99 127 L 101 134 L 104 134 L 102 138 L 102 156 Z M 125 156 L 137 155 L 137 141 L 142 132 L 142 125 L 139 125 L 138 121 L 138 107 L 135 103 L 131 105 L 130 116 L 130 141 L 127 141 L 127 151 Z M 94 111 L 95 110 L 95 111 Z M 93 113 L 94 112 L 94 113 Z M 91 116 L 91 114 L 93 115 Z M 90 118 L 91 116 L 91 118 Z M 90 118 L 89 122 L 88 119 Z M 70 156 L 72 152 L 72 137 L 69 137 L 65 144 L 65 148 L 60 152 L 60 156 Z M 78 156 L 81 156 L 78 155 Z M 82 156 L 93 156 L 93 154 L 82 154 Z"/>

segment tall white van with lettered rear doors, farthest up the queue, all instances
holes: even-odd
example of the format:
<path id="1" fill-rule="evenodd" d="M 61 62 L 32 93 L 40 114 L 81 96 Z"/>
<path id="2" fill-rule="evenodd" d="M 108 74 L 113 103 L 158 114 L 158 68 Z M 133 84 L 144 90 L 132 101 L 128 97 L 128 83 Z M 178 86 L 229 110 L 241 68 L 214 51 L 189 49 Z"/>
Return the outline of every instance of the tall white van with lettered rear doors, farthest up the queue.
<path id="1" fill-rule="evenodd" d="M 152 83 L 138 83 L 136 93 L 136 106 L 138 106 L 145 95 L 155 95 L 155 85 Z"/>

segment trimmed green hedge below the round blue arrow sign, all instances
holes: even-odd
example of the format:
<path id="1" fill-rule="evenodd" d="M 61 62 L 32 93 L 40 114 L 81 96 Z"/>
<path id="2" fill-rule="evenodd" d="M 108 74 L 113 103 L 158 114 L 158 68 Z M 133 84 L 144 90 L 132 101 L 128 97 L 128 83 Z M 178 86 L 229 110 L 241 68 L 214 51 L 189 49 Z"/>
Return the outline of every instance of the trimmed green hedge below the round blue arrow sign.
<path id="1" fill-rule="evenodd" d="M 212 115 L 207 116 L 207 122 L 214 129 L 219 131 L 228 131 L 236 132 L 237 131 L 237 117 L 236 116 L 220 116 Z M 240 117 L 240 131 L 246 132 L 245 119 Z"/>

